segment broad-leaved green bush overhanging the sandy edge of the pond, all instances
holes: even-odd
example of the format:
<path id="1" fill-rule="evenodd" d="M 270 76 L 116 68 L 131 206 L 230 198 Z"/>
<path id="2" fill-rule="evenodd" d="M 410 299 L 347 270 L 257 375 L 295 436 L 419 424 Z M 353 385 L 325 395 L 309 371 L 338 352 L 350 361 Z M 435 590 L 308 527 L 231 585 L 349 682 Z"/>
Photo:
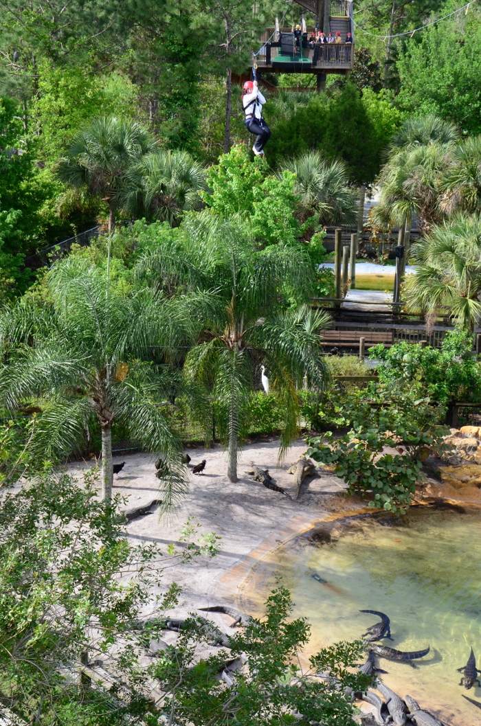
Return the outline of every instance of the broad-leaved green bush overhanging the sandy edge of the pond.
<path id="1" fill-rule="evenodd" d="M 349 396 L 351 408 L 341 414 L 352 430 L 340 439 L 331 432 L 308 439 L 308 454 L 315 461 L 334 464 L 350 494 L 369 499 L 369 507 L 405 513 L 416 492 L 422 462 L 429 454 L 446 450 L 447 427 L 440 425 L 442 407 L 419 396 L 419 386 L 407 391 L 381 384 L 377 401 Z M 395 447 L 397 454 L 384 451 Z"/>

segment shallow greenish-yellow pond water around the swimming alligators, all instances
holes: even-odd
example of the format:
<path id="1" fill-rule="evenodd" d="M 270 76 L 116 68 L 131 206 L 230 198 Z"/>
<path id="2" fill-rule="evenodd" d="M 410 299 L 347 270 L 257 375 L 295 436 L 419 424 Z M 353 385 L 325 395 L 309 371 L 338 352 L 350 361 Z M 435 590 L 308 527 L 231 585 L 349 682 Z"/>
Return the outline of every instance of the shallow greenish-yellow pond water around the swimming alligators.
<path id="1" fill-rule="evenodd" d="M 294 616 L 312 625 L 309 652 L 358 638 L 379 621 L 360 610 L 387 613 L 394 640 L 383 643 L 431 650 L 416 669 L 378 658 L 384 682 L 453 726 L 480 726 L 481 688 L 461 688 L 456 669 L 471 647 L 481 669 L 481 511 L 413 507 L 400 518 L 340 521 L 336 530 L 337 541 L 320 529 L 318 537 L 311 532 L 275 550 L 254 568 L 246 592 L 265 595 L 280 575 L 293 594 Z M 254 604 L 246 594 L 245 603 L 249 597 Z M 259 601 L 254 607 L 259 611 Z"/>

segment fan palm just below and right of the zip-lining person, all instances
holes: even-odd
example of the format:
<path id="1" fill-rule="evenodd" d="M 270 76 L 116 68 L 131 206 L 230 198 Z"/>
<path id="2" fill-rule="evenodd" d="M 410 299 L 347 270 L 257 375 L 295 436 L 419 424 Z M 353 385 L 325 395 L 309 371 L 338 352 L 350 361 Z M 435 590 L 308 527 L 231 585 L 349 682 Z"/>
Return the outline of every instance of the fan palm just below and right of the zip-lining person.
<path id="1" fill-rule="evenodd" d="M 321 224 L 355 223 L 358 194 L 349 187 L 343 161 L 327 161 L 320 152 L 311 151 L 281 164 L 280 176 L 285 170 L 296 174 L 294 191 L 306 216 L 315 214 Z"/>

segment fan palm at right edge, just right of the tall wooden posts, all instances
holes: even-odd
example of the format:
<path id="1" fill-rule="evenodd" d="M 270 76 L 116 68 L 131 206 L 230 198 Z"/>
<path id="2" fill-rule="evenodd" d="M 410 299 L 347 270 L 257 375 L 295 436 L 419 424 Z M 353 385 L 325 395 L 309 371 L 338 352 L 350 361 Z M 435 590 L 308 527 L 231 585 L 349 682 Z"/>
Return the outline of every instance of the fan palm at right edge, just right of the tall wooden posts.
<path id="1" fill-rule="evenodd" d="M 413 261 L 408 303 L 427 314 L 448 306 L 458 325 L 472 329 L 481 317 L 481 217 L 458 213 L 434 227 L 416 244 Z"/>

